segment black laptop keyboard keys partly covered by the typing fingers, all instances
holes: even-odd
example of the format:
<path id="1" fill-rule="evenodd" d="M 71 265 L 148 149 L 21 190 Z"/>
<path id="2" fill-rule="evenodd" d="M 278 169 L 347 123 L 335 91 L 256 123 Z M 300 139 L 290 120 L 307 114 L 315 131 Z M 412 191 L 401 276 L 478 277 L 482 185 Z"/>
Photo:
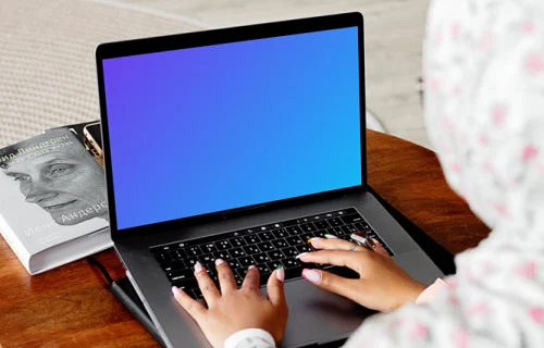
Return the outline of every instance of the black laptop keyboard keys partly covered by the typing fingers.
<path id="1" fill-rule="evenodd" d="M 284 266 L 286 281 L 301 277 L 304 268 L 322 269 L 346 277 L 358 277 L 355 272 L 346 268 L 308 264 L 295 259 L 299 253 L 314 250 L 308 243 L 312 237 L 324 237 L 325 234 L 330 234 L 351 240 L 349 236 L 358 231 L 364 231 L 370 237 L 380 241 L 393 256 L 391 249 L 355 208 L 176 241 L 152 247 L 150 251 L 173 286 L 184 289 L 193 298 L 202 298 L 194 276 L 197 261 L 206 268 L 218 286 L 218 274 L 213 265 L 217 259 L 223 259 L 228 263 L 238 287 L 242 286 L 250 265 L 259 269 L 261 286 L 267 284 L 270 274 L 279 265 Z"/>

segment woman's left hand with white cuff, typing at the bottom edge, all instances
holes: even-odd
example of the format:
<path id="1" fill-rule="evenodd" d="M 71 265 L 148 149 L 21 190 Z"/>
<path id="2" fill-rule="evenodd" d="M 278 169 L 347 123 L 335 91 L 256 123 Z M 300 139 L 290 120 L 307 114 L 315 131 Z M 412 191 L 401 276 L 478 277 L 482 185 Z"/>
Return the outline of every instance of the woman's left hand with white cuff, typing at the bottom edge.
<path id="1" fill-rule="evenodd" d="M 206 338 L 215 348 L 223 347 L 228 336 L 244 328 L 262 328 L 274 337 L 279 345 L 287 325 L 287 303 L 283 290 L 285 270 L 272 272 L 268 281 L 268 299 L 259 289 L 259 270 L 251 266 L 240 289 L 236 288 L 231 268 L 221 259 L 215 261 L 221 294 L 197 263 L 195 277 L 208 303 L 208 309 L 183 290 L 173 287 L 177 302 L 189 313 L 202 330 Z M 274 343 L 271 343 L 272 345 Z"/>

